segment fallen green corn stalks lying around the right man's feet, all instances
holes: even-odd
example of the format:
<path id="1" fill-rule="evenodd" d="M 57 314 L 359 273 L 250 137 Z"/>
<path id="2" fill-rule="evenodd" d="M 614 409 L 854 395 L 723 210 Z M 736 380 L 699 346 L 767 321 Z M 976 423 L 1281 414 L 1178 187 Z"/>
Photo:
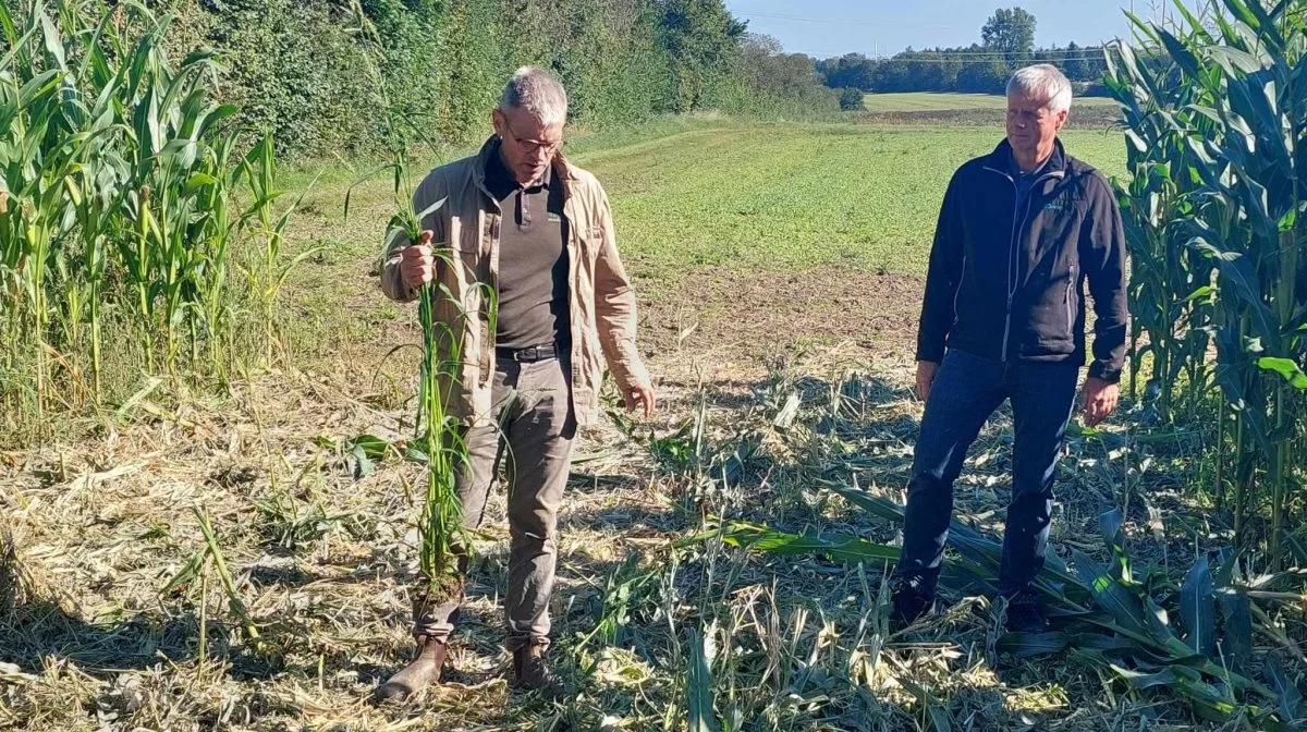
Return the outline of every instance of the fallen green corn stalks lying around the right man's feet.
<path id="1" fill-rule="evenodd" d="M 850 486 L 836 486 L 833 491 L 870 516 L 891 524 L 903 522 L 903 507 L 884 497 Z M 1107 553 L 1116 558 L 1114 563 L 1128 566 L 1121 563 L 1120 510 L 1104 514 L 1099 524 Z M 891 567 L 899 556 L 898 548 L 860 536 L 789 533 L 738 520 L 710 525 L 682 544 L 711 541 L 766 554 L 821 556 L 847 566 L 877 569 Z M 941 567 L 940 586 L 962 595 L 996 595 L 1001 540 L 953 519 L 948 541 L 954 553 Z M 1213 722 L 1244 719 L 1259 729 L 1287 731 L 1307 720 L 1307 710 L 1259 681 L 1251 669 L 1253 631 L 1276 631 L 1276 624 L 1253 599 L 1274 595 L 1260 588 L 1286 576 L 1249 580 L 1238 569 L 1239 556 L 1225 552 L 1214 567 L 1200 559 L 1175 588 L 1168 578 L 1132 576 L 1121 573 L 1120 566 L 1103 566 L 1077 550 L 1072 558 L 1069 566 L 1050 553 L 1048 563 L 1034 582 L 1034 590 L 1059 610 L 1051 614 L 1051 630 L 1008 633 L 995 643 L 999 652 L 1018 659 L 1074 655 L 1136 691 L 1162 688 L 1184 699 L 1196 716 Z M 1178 591 L 1151 592 L 1157 586 Z M 1274 599 L 1300 601 L 1298 595 Z M 1172 617 L 1179 622 L 1172 622 Z M 1214 642 L 1218 631 L 1223 647 Z"/>

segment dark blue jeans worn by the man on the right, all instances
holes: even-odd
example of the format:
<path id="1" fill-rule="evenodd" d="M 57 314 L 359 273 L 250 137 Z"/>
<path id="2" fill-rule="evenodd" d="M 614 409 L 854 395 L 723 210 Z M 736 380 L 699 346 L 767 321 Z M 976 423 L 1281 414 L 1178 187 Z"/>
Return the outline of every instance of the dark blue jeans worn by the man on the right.
<path id="1" fill-rule="evenodd" d="M 901 578 L 935 595 L 953 518 L 953 481 L 985 420 L 1010 399 L 1016 439 L 999 592 L 1010 596 L 1030 587 L 1044 566 L 1053 472 L 1078 375 L 1076 363 L 1000 362 L 955 349 L 945 354 L 912 455 Z"/>

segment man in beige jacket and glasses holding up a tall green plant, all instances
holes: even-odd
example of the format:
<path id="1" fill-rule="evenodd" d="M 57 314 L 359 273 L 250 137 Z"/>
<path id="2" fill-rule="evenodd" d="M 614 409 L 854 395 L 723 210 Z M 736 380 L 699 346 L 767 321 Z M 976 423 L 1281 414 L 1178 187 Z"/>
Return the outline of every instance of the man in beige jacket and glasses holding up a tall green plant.
<path id="1" fill-rule="evenodd" d="M 635 345 L 635 293 L 617 255 L 608 196 L 559 152 L 566 119 L 562 85 L 538 68 L 519 69 L 481 152 L 435 169 L 418 186 L 416 210 L 444 203 L 422 221 L 418 242 L 391 246 L 382 272 L 393 299 L 414 299 L 433 284 L 448 294 L 442 301 L 461 303 L 438 318 L 461 336 L 463 361 L 443 391 L 450 413 L 468 426 L 457 480 L 463 522 L 481 524 L 503 464 L 512 681 L 550 695 L 561 691 L 545 664 L 558 506 L 576 427 L 599 420 L 604 363 L 630 409 L 654 412 Z M 414 597 L 417 656 L 378 688 L 378 701 L 439 681 L 460 604 L 426 592 Z"/>

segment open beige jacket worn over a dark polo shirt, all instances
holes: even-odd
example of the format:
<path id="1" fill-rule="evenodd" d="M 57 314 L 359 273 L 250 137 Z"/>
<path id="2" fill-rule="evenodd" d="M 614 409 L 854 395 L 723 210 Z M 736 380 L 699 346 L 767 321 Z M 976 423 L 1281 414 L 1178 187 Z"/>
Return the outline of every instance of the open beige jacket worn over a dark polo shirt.
<path id="1" fill-rule="evenodd" d="M 465 421 L 490 417 L 495 358 L 493 298 L 486 295 L 497 291 L 501 213 L 485 186 L 485 161 L 495 150 L 491 140 L 477 156 L 433 170 L 413 193 L 418 213 L 444 199 L 443 207 L 422 220 L 422 229 L 431 230 L 431 241 L 438 242 L 437 320 L 454 324 L 463 344 L 457 383 L 442 391 L 448 395 L 448 413 Z M 647 384 L 650 376 L 635 346 L 635 290 L 617 256 L 608 193 L 562 154 L 554 158 L 554 175 L 563 184 L 569 224 L 572 409 L 579 425 L 592 425 L 599 420 L 605 359 L 623 392 Z M 401 302 L 417 298 L 400 280 L 400 252 L 408 246 L 401 235 L 387 247 L 382 269 L 382 290 Z M 452 298 L 461 302 L 461 310 Z"/>

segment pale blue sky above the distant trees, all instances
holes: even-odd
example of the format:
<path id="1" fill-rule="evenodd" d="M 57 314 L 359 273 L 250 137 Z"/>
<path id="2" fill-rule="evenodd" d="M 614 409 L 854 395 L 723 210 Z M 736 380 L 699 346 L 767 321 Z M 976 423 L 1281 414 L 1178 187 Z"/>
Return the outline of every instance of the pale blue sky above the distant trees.
<path id="1" fill-rule="evenodd" d="M 1162 0 L 1158 5 L 1168 4 Z M 1131 0 L 725 0 L 749 30 L 778 38 L 786 51 L 810 56 L 895 54 L 911 46 L 968 46 L 996 8 L 1034 13 L 1035 43 L 1093 46 L 1131 35 L 1123 8 Z M 1153 3 L 1134 0 L 1137 14 Z"/>

